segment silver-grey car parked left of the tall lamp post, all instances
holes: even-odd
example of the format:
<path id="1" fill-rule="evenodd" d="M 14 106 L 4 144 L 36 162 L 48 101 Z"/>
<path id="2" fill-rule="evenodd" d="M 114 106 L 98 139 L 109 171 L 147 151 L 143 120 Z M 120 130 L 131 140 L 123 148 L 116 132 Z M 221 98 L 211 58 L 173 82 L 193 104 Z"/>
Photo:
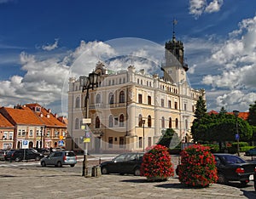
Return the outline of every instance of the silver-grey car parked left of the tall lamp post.
<path id="1" fill-rule="evenodd" d="M 41 166 L 55 165 L 61 168 L 62 165 L 70 165 L 72 168 L 77 163 L 77 156 L 73 151 L 53 151 L 48 156 L 41 159 Z"/>

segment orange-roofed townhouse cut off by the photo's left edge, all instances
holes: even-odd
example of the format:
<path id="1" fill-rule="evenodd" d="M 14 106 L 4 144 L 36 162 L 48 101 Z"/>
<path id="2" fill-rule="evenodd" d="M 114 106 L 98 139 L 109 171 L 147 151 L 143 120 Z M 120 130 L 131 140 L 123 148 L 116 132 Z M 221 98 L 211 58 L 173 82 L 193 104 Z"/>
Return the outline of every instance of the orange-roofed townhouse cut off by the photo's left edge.
<path id="1" fill-rule="evenodd" d="M 0 149 L 12 149 L 15 126 L 0 113 Z"/>

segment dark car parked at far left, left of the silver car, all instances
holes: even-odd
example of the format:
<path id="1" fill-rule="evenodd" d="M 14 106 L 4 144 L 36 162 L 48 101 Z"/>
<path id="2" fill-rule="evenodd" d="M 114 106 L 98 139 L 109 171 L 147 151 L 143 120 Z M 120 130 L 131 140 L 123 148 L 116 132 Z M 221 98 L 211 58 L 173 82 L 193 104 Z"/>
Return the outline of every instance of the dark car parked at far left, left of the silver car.
<path id="1" fill-rule="evenodd" d="M 6 156 L 6 161 L 20 162 L 21 160 L 36 160 L 39 161 L 44 155 L 34 151 L 33 149 L 20 149 L 20 150 L 10 150 Z"/>

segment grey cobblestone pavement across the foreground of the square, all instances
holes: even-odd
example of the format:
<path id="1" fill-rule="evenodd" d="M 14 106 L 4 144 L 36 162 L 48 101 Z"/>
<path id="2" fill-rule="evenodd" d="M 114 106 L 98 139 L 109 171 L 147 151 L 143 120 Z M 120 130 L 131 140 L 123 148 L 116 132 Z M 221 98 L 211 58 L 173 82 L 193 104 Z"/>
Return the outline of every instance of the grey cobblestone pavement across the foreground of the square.
<path id="1" fill-rule="evenodd" d="M 172 159 L 177 161 L 175 157 Z M 80 163 L 81 164 L 81 163 Z M 78 168 L 80 167 L 77 165 Z M 76 167 L 77 167 L 76 166 Z M 249 189 L 238 184 L 213 184 L 192 189 L 177 177 L 164 182 L 147 182 L 133 175 L 102 175 L 84 178 L 81 173 L 37 168 L 0 168 L 1 198 L 256 198 L 253 184 Z"/>

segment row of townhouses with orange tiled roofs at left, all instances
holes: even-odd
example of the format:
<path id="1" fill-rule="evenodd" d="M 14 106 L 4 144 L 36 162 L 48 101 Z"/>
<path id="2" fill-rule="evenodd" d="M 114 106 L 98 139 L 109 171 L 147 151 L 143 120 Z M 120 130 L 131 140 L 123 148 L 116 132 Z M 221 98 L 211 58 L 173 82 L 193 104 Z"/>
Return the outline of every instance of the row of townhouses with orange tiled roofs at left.
<path id="1" fill-rule="evenodd" d="M 2 107 L 0 117 L 3 117 L 0 122 L 1 149 L 20 149 L 22 140 L 28 141 L 29 148 L 66 146 L 67 124 L 41 105 Z"/>

